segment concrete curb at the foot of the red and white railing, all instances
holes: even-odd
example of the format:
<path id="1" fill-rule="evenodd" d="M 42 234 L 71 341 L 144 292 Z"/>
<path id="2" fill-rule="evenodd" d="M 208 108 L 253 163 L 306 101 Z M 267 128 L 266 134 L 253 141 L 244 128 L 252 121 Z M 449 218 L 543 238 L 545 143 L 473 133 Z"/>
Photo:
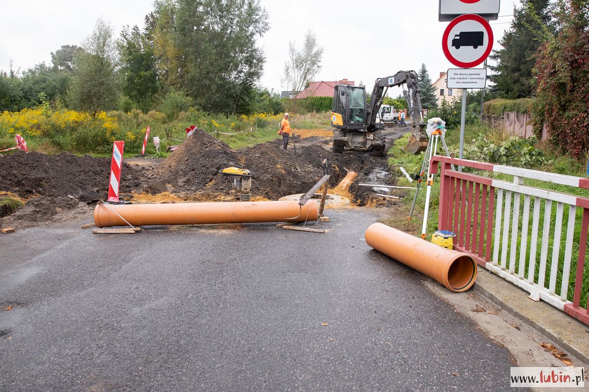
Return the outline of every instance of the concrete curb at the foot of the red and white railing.
<path id="1" fill-rule="evenodd" d="M 472 290 L 530 324 L 556 341 L 560 349 L 583 361 L 585 367 L 589 366 L 589 326 L 544 301 L 532 301 L 527 292 L 480 266 Z"/>

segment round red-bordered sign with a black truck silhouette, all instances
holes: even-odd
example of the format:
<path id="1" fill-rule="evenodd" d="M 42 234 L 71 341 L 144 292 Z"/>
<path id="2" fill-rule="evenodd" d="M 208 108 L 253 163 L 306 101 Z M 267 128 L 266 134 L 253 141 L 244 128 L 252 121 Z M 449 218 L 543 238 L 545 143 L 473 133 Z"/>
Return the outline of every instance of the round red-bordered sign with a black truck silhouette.
<path id="1" fill-rule="evenodd" d="M 461 68 L 484 62 L 493 48 L 493 31 L 479 15 L 461 15 L 454 19 L 442 36 L 442 49 L 448 61 Z"/>

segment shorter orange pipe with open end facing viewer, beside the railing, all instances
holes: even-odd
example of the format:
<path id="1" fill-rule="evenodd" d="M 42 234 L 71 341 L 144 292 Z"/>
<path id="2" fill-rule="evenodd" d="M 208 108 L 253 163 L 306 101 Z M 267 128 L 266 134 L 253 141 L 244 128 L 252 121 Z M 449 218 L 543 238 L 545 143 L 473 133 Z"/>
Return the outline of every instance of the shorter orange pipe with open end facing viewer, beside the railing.
<path id="1" fill-rule="evenodd" d="M 452 292 L 470 289 L 477 278 L 477 263 L 466 253 L 446 249 L 382 223 L 370 225 L 364 236 L 370 247 L 426 274 Z"/>

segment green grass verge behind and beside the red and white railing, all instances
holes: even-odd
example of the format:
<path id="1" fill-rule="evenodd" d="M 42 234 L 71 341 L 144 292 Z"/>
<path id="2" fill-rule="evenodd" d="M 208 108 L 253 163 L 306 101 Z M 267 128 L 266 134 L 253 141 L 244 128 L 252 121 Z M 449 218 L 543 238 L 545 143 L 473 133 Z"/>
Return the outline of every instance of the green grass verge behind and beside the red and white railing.
<path id="1" fill-rule="evenodd" d="M 487 138 L 489 140 L 493 140 L 494 142 L 501 142 L 502 140 L 505 140 L 508 135 L 504 135 L 501 132 L 498 132 L 497 130 L 491 129 L 489 128 L 487 125 L 484 124 L 475 124 L 475 125 L 469 125 L 466 126 L 465 129 L 465 145 L 468 145 L 468 143 L 470 142 L 470 140 L 475 139 L 477 137 L 477 135 L 480 132 L 485 132 L 485 134 L 487 135 Z M 402 175 L 402 173 L 399 171 L 398 166 L 403 166 L 409 173 L 417 173 L 419 171 L 419 169 L 421 168 L 421 163 L 423 160 L 423 153 L 419 154 L 419 155 L 412 155 L 410 153 L 405 152 L 404 147 L 406 146 L 407 142 L 408 142 L 408 138 L 409 138 L 409 134 L 405 135 L 403 138 L 396 140 L 396 142 L 394 143 L 394 145 L 392 146 L 391 149 L 389 149 L 388 151 L 388 155 L 389 155 L 389 165 L 392 167 L 392 172 L 396 173 L 396 176 L 398 177 L 398 185 L 401 186 L 415 186 L 415 182 L 410 183 L 408 180 L 406 180 L 405 176 Z M 448 143 L 448 148 L 449 150 L 451 150 L 451 152 L 456 152 L 458 150 L 458 140 L 459 140 L 459 133 L 458 131 L 448 131 L 446 133 L 446 142 Z M 584 164 L 581 162 L 578 162 L 566 155 L 562 155 L 562 154 L 558 154 L 556 152 L 554 152 L 554 150 L 550 149 L 549 146 L 544 145 L 542 146 L 542 149 L 544 150 L 547 158 L 550 160 L 549 163 L 545 164 L 544 166 L 540 167 L 539 170 L 543 170 L 545 172 L 554 172 L 554 173 L 562 173 L 565 175 L 573 175 L 573 176 L 579 176 L 579 177 L 584 177 L 585 176 L 585 170 L 586 168 L 584 167 Z M 468 157 L 466 157 L 468 158 Z M 501 175 L 501 174 L 497 174 L 497 173 L 488 173 L 488 172 L 473 172 L 474 174 L 477 175 L 482 175 L 482 176 L 491 176 L 493 178 L 496 179 L 501 179 L 501 180 L 505 180 L 506 182 L 512 182 L 513 177 L 512 176 L 508 176 L 508 175 Z M 570 187 L 570 186 L 564 186 L 564 185 L 558 185 L 558 184 L 554 184 L 554 183 L 549 183 L 549 182 L 542 182 L 539 180 L 533 180 L 533 179 L 525 179 L 524 185 L 527 186 L 531 186 L 531 187 L 540 187 L 542 189 L 549 189 L 549 190 L 554 190 L 555 192 L 561 192 L 561 193 L 568 193 L 568 194 L 572 194 L 572 195 L 577 195 L 577 196 L 584 196 L 584 197 L 589 197 L 589 190 L 587 189 L 578 189 L 577 187 Z M 425 188 L 425 186 L 423 187 Z M 401 206 L 400 206 L 400 211 L 398 216 L 394 216 L 391 217 L 390 219 L 386 219 L 383 221 L 383 223 L 386 223 L 388 225 L 391 226 L 395 226 L 395 227 L 399 227 L 407 232 L 413 233 L 417 236 L 419 236 L 421 234 L 421 226 L 422 226 L 422 222 L 423 222 L 423 206 L 425 205 L 425 189 L 421 189 L 419 194 L 418 194 L 418 198 L 417 198 L 417 202 L 416 202 L 416 210 L 415 210 L 415 215 L 413 217 L 412 222 L 408 222 L 408 220 L 406 219 L 406 216 L 409 215 L 409 210 L 411 209 L 411 203 L 413 200 L 413 195 L 414 192 L 408 192 L 407 196 L 402 200 Z M 533 203 L 534 203 L 534 198 L 532 197 L 532 203 L 531 203 L 531 207 L 530 207 L 530 222 L 528 223 L 528 237 L 531 234 L 531 230 L 532 230 L 532 214 L 533 214 Z M 497 200 L 497 198 L 495 199 Z M 505 193 L 504 193 L 504 203 L 505 203 Z M 548 236 L 547 239 L 545 239 L 545 241 L 548 244 L 548 256 L 547 256 L 547 264 L 546 264 L 546 273 L 545 273 L 545 282 L 544 282 L 544 286 L 548 288 L 549 283 L 550 283 L 550 273 L 551 273 L 551 260 L 552 260 L 552 250 L 555 247 L 555 239 L 554 239 L 554 228 L 556 226 L 556 206 L 557 203 L 553 202 L 552 203 L 552 209 L 551 209 L 551 216 L 550 216 L 550 236 Z M 535 274 L 534 274 L 534 281 L 538 282 L 538 271 L 540 269 L 540 246 L 542 244 L 543 239 L 543 223 L 544 223 L 544 215 L 545 215 L 545 201 L 542 200 L 541 202 L 541 206 L 540 206 L 540 219 L 539 219 L 539 228 L 538 228 L 538 251 L 535 257 Z M 429 214 L 428 214 L 428 224 L 427 224 L 427 230 L 426 232 L 428 233 L 428 236 L 431 235 L 431 233 L 433 233 L 438 227 L 438 209 L 439 209 L 439 181 L 435 181 L 434 185 L 432 186 L 432 192 L 431 192 L 431 201 L 430 201 L 430 206 L 429 206 Z M 488 209 L 487 209 L 488 210 Z M 521 225 L 522 225 L 522 216 L 523 216 L 523 210 L 524 210 L 524 197 L 521 197 L 521 201 L 520 201 L 520 205 L 519 205 L 519 214 L 518 214 L 518 230 L 521 230 Z M 497 209 L 495 209 L 495 212 L 497 211 Z M 576 220 L 575 220 L 575 230 L 574 230 L 574 240 L 573 240 L 573 256 L 571 258 L 571 274 L 568 280 L 568 293 L 567 293 L 567 299 L 572 301 L 573 300 L 573 294 L 574 294 L 574 284 L 575 284 L 575 274 L 576 274 L 576 270 L 577 270 L 577 258 L 578 258 L 578 244 L 581 241 L 580 238 L 580 230 L 581 230 L 581 220 L 582 220 L 582 213 L 583 213 L 583 209 L 578 208 L 576 211 Z M 559 250 L 559 254 L 558 254 L 558 273 L 556 276 L 556 287 L 555 287 L 555 292 L 556 293 L 560 293 L 561 287 L 562 287 L 562 269 L 563 269 L 563 263 L 564 263 L 564 253 L 565 253 L 565 243 L 566 243 L 566 230 L 567 230 L 567 224 L 568 224 L 568 206 L 565 205 L 564 206 L 564 213 L 562 215 L 562 235 L 561 235 L 561 239 L 560 239 L 560 250 Z M 512 196 L 512 203 L 511 203 L 511 210 L 509 212 L 510 215 L 510 224 L 513 222 L 513 216 L 514 216 L 514 197 Z M 495 219 L 495 213 L 494 213 L 494 217 L 493 219 Z M 503 219 L 503 216 L 502 216 Z M 485 226 L 485 225 L 483 225 Z M 492 239 L 494 239 L 494 226 L 493 226 L 493 233 L 492 233 Z M 519 234 L 518 232 L 518 238 L 517 238 L 517 247 L 518 247 L 518 251 L 516 253 L 516 257 L 515 257 L 515 272 L 518 272 L 519 269 L 519 248 L 521 247 L 521 234 Z M 501 233 L 501 238 L 502 238 L 502 233 Z M 584 239 L 585 241 L 587 239 Z M 493 246 L 493 240 L 491 244 L 486 244 L 486 246 Z M 508 240 L 506 243 L 507 246 L 507 263 L 509 263 L 509 256 L 510 256 L 510 252 L 511 252 L 511 225 L 509 226 L 509 230 L 508 230 Z M 527 250 L 526 250 L 526 255 L 525 255 L 525 260 L 526 260 L 526 264 L 525 264 L 525 277 L 528 277 L 528 270 L 529 270 L 529 258 L 530 258 L 530 242 L 528 240 L 527 243 Z M 485 249 L 486 250 L 486 249 Z M 500 249 L 498 250 L 498 252 L 501 252 L 501 246 Z M 492 252 L 491 252 L 492 254 Z M 501 253 L 499 253 L 499 261 L 501 260 Z M 584 268 L 584 281 L 583 281 L 583 288 L 582 288 L 582 295 L 581 295 L 581 306 L 587 306 L 587 296 L 589 293 L 589 280 L 586 279 L 587 276 L 589 276 L 589 252 L 587 252 L 587 254 L 585 254 L 585 264 L 584 264 L 585 268 Z"/>

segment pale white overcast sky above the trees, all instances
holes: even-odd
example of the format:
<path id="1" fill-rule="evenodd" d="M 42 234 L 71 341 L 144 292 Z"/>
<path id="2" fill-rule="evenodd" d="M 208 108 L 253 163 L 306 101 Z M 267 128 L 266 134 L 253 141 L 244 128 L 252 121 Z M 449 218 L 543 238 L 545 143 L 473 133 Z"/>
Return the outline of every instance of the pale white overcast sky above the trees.
<path id="1" fill-rule="evenodd" d="M 369 89 L 378 77 L 425 63 L 435 81 L 451 68 L 441 48 L 449 22 L 438 22 L 438 0 L 261 0 L 269 15 L 269 31 L 259 40 L 266 54 L 262 86 L 280 85 L 289 40 L 301 43 L 307 29 L 323 47 L 322 69 L 316 80 L 343 78 L 362 81 Z M 502 0 L 501 16 L 492 21 L 494 48 L 509 28 L 514 4 Z M 153 9 L 149 0 L 0 0 L 0 70 L 9 61 L 21 71 L 45 61 L 61 45 L 81 45 L 96 20 L 110 21 L 118 34 L 124 25 L 143 26 Z M 399 91 L 392 91 L 397 95 Z"/>

